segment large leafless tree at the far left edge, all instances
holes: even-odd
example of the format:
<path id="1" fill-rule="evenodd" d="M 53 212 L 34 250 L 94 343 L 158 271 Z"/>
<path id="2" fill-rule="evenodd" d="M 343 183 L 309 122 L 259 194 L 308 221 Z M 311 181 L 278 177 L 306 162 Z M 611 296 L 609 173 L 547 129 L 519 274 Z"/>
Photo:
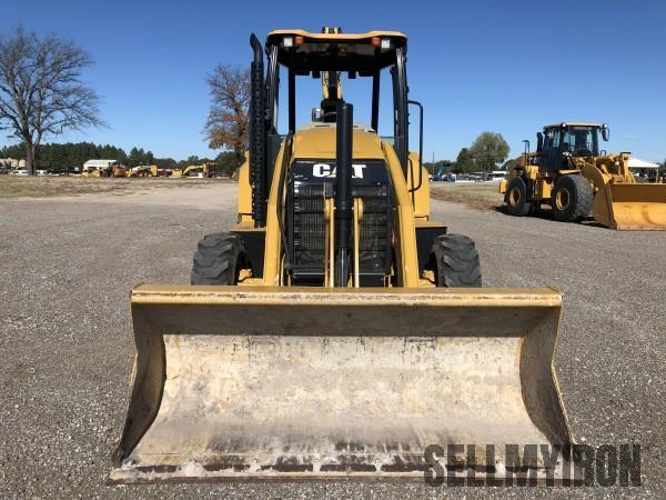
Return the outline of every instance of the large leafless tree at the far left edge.
<path id="1" fill-rule="evenodd" d="M 26 143 L 31 174 L 44 137 L 103 126 L 97 92 L 81 82 L 91 64 L 85 51 L 56 34 L 39 38 L 19 28 L 0 37 L 0 130 Z"/>

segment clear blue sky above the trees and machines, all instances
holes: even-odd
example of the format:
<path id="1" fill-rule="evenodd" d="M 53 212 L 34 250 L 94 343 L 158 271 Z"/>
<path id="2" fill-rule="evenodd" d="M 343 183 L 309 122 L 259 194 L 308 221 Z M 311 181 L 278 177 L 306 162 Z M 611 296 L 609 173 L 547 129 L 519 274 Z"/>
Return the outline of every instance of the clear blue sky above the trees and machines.
<path id="1" fill-rule="evenodd" d="M 426 161 L 455 159 L 484 131 L 502 133 L 514 157 L 523 139 L 534 144 L 544 124 L 561 121 L 607 122 L 608 151 L 666 158 L 664 0 L 3 0 L 0 33 L 19 26 L 72 39 L 94 60 L 84 80 L 102 97 L 108 128 L 49 142 L 213 157 L 203 136 L 206 74 L 219 63 L 248 67 L 252 32 L 264 40 L 273 29 L 340 26 L 408 37 L 410 98 L 425 108 Z M 319 84 L 297 88 L 303 122 L 319 103 Z M 370 88 L 359 79 L 343 83 L 357 121 L 369 121 Z M 386 94 L 382 106 L 390 106 Z M 381 116 L 380 132 L 387 132 L 390 114 Z M 0 136 L 0 146 L 14 142 Z"/>

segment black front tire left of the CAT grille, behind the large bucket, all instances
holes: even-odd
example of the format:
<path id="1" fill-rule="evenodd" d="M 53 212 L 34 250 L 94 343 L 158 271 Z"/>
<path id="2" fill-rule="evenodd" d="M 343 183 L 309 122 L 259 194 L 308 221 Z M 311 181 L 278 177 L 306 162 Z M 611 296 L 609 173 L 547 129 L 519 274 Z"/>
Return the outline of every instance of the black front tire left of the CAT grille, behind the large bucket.
<path id="1" fill-rule="evenodd" d="M 245 248 L 238 234 L 216 232 L 203 237 L 192 263 L 192 284 L 236 284 L 245 267 Z"/>

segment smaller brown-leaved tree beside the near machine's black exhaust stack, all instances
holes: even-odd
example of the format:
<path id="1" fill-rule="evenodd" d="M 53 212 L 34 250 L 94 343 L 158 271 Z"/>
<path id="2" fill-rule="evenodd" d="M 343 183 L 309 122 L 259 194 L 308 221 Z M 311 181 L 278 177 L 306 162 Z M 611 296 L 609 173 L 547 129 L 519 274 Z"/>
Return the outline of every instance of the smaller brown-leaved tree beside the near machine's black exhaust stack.
<path id="1" fill-rule="evenodd" d="M 204 133 L 211 148 L 226 148 L 233 151 L 238 168 L 248 149 L 250 71 L 235 66 L 219 64 L 206 81 L 211 93 L 211 110 Z"/>

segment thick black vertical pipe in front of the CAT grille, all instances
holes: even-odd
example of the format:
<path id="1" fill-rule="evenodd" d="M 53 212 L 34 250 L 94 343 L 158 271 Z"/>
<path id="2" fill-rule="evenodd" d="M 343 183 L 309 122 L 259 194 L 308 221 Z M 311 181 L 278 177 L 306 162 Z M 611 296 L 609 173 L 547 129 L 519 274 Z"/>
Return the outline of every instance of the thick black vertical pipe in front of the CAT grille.
<path id="1" fill-rule="evenodd" d="M 352 127 L 354 107 L 337 103 L 335 127 L 335 286 L 346 287 L 352 236 Z"/>

